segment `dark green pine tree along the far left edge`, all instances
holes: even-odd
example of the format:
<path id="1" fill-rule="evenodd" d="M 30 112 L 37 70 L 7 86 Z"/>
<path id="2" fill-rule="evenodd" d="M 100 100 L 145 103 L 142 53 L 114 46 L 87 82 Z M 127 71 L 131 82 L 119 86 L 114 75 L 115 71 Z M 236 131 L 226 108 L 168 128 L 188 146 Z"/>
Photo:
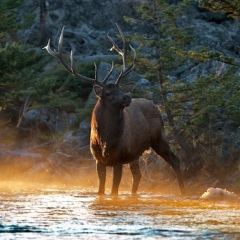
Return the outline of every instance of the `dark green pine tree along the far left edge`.
<path id="1" fill-rule="evenodd" d="M 21 91 L 31 85 L 36 73 L 43 67 L 43 64 L 37 64 L 43 55 L 22 44 L 16 35 L 17 30 L 28 24 L 24 19 L 19 21 L 17 8 L 23 3 L 24 0 L 0 2 L 0 109 L 10 106 L 19 109 L 24 102 Z"/>

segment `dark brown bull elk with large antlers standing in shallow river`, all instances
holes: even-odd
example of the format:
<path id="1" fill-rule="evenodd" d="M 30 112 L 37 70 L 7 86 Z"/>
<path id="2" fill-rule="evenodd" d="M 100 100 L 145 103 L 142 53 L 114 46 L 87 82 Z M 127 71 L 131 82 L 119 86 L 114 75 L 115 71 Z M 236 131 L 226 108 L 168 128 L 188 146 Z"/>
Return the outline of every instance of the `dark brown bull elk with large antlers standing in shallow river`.
<path id="1" fill-rule="evenodd" d="M 113 183 L 111 194 L 117 195 L 122 178 L 123 164 L 129 164 L 133 177 L 132 194 L 136 194 L 141 172 L 138 159 L 142 153 L 152 147 L 154 151 L 165 159 L 174 169 L 180 192 L 184 194 L 184 183 L 180 170 L 179 159 L 170 150 L 164 135 L 163 121 L 158 108 L 150 100 L 143 98 L 131 99 L 129 92 L 134 83 L 130 82 L 122 86 L 120 81 L 127 76 L 135 67 L 136 51 L 133 52 L 133 62 L 127 66 L 126 39 L 120 27 L 116 24 L 123 41 L 121 50 L 113 39 L 108 35 L 113 44 L 111 50 L 115 50 L 122 57 L 123 66 L 115 83 L 107 83 L 114 64 L 103 81 L 98 80 L 97 67 L 95 65 L 95 78 L 89 78 L 77 73 L 74 69 L 73 54 L 70 54 L 70 65 L 62 55 L 63 32 L 62 29 L 58 51 L 50 48 L 50 39 L 44 47 L 50 55 L 57 58 L 66 70 L 74 77 L 91 82 L 98 101 L 92 112 L 90 149 L 96 160 L 96 168 L 99 179 L 99 194 L 105 193 L 106 168 L 113 168 Z"/>

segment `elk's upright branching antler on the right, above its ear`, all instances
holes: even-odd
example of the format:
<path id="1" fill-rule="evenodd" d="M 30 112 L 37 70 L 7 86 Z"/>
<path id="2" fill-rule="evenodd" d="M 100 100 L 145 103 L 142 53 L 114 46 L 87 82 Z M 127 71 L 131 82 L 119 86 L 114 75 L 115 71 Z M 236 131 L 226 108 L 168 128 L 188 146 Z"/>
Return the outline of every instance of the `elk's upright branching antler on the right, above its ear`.
<path id="1" fill-rule="evenodd" d="M 118 32 L 122 38 L 122 42 L 123 42 L 123 50 L 120 50 L 120 48 L 117 46 L 117 44 L 113 41 L 113 39 L 108 36 L 108 39 L 110 40 L 110 42 L 113 44 L 112 48 L 110 49 L 110 51 L 115 50 L 121 57 L 122 57 L 122 61 L 123 61 L 123 66 L 122 66 L 122 70 L 121 73 L 118 77 L 118 79 L 116 80 L 116 84 L 119 83 L 119 81 L 124 78 L 125 76 L 127 76 L 130 72 L 133 71 L 134 67 L 135 67 L 135 61 L 136 61 L 136 51 L 135 49 L 129 44 L 129 47 L 131 48 L 131 50 L 133 51 L 133 62 L 132 64 L 127 67 L 127 47 L 126 47 L 126 38 L 121 30 L 121 28 L 118 26 L 118 24 L 116 23 L 116 27 L 118 29 Z"/>

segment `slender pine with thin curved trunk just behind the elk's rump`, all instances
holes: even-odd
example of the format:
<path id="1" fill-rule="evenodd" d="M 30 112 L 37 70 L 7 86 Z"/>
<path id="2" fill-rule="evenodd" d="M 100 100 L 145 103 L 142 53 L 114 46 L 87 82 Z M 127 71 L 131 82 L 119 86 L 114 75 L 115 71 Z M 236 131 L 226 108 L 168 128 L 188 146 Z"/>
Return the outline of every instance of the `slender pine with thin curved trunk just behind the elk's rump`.
<path id="1" fill-rule="evenodd" d="M 137 11 L 141 13 L 142 20 L 146 25 L 149 34 L 137 35 L 134 39 L 141 46 L 147 47 L 151 56 L 141 57 L 138 61 L 140 71 L 146 73 L 146 77 L 154 81 L 158 79 L 161 99 L 164 111 L 167 115 L 168 124 L 172 129 L 174 137 L 190 158 L 193 151 L 191 142 L 181 133 L 175 121 L 173 109 L 169 103 L 169 86 L 173 84 L 171 75 L 176 68 L 183 66 L 187 58 L 179 57 L 176 49 L 186 50 L 194 36 L 189 34 L 189 27 L 179 26 L 179 18 L 186 11 L 191 1 L 182 1 L 175 5 L 165 0 L 151 0 L 144 2 Z M 126 18 L 127 21 L 135 22 L 136 19 Z"/>

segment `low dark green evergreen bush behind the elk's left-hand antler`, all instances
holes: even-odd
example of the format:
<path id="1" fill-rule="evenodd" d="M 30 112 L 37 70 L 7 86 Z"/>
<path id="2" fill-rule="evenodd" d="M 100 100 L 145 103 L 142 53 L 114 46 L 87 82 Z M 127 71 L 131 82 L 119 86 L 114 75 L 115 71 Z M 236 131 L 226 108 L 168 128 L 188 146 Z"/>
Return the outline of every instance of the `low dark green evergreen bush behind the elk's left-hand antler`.
<path id="1" fill-rule="evenodd" d="M 92 64 L 79 65 L 76 69 L 84 75 L 94 75 Z M 31 95 L 35 106 L 48 106 L 73 113 L 84 107 L 91 89 L 91 84 L 79 81 L 62 66 L 57 66 L 55 70 L 42 73 L 24 91 L 24 95 Z"/>

